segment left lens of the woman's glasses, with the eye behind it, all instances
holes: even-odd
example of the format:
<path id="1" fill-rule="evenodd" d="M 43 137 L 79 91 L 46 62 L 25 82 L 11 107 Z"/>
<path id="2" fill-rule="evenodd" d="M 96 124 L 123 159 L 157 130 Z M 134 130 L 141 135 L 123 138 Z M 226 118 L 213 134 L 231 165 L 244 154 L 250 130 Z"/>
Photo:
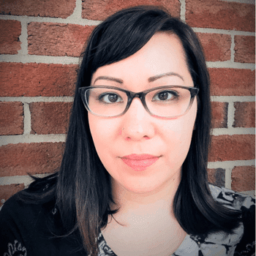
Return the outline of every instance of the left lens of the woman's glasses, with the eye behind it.
<path id="1" fill-rule="evenodd" d="M 86 105 L 98 116 L 118 116 L 127 106 L 128 97 L 123 91 L 94 88 L 85 91 Z"/>

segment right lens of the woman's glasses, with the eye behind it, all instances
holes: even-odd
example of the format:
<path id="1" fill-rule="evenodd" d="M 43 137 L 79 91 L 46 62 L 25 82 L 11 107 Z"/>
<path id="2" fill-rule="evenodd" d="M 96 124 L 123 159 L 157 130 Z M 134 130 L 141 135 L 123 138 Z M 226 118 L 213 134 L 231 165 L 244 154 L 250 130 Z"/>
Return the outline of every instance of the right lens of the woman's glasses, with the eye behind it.
<path id="1" fill-rule="evenodd" d="M 180 116 L 189 108 L 190 98 L 191 94 L 187 89 L 165 87 L 146 94 L 146 105 L 155 116 Z"/>

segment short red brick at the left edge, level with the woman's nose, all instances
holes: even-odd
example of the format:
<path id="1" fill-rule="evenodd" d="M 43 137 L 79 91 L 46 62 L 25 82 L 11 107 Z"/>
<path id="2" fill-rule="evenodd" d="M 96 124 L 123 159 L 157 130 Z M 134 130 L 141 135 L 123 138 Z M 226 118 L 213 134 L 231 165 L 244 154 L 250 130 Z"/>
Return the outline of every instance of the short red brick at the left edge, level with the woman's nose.
<path id="1" fill-rule="evenodd" d="M 23 104 L 0 102 L 0 135 L 23 134 Z"/>

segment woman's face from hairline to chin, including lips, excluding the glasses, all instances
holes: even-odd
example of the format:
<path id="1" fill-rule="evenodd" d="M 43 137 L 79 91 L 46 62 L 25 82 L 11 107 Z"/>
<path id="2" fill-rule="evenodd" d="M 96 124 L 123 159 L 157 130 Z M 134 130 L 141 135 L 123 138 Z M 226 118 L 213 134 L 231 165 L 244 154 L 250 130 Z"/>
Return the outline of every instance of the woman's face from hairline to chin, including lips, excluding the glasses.
<path id="1" fill-rule="evenodd" d="M 173 75 L 165 75 L 170 72 Z M 157 86 L 194 85 L 178 37 L 157 33 L 134 55 L 99 67 L 91 86 L 140 92 Z M 196 114 L 195 99 L 184 116 L 151 116 L 138 97 L 123 116 L 105 118 L 89 113 L 94 145 L 113 185 L 145 193 L 179 182 Z"/>

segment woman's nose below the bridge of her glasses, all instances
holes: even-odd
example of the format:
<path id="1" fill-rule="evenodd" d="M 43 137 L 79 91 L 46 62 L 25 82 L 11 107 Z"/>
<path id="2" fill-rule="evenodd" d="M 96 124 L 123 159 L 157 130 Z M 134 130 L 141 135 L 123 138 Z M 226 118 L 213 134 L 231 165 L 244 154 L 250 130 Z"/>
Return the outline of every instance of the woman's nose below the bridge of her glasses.
<path id="1" fill-rule="evenodd" d="M 122 135 L 126 140 L 148 140 L 154 137 L 153 117 L 138 97 L 132 99 L 127 113 L 122 116 Z"/>

